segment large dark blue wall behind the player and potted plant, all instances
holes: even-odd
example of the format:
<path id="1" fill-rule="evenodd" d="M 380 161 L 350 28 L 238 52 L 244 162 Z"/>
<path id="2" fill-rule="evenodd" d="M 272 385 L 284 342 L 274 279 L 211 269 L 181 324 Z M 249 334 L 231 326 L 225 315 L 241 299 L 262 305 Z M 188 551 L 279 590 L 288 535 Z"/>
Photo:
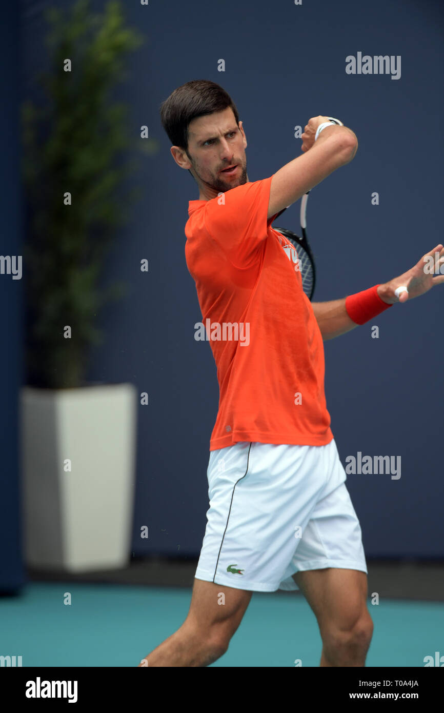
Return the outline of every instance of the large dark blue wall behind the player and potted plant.
<path id="1" fill-rule="evenodd" d="M 48 5 L 22 5 L 24 95 L 41 56 Z M 147 124 L 159 150 L 143 159 L 136 179 L 143 200 L 105 265 L 106 282 L 125 279 L 129 289 L 100 315 L 106 339 L 91 355 L 88 378 L 131 381 L 149 394 L 138 414 L 133 551 L 198 555 L 218 387 L 210 346 L 194 339 L 201 314 L 185 264 L 187 207 L 197 186 L 170 155 L 160 103 L 191 79 L 220 83 L 243 121 L 249 180 L 300 155 L 294 127 L 311 116 L 336 116 L 355 131 L 356 158 L 313 190 L 308 208 L 314 299 L 344 297 L 400 275 L 443 240 L 443 5 L 124 6 L 146 41 L 128 62 L 119 98 L 130 104 L 135 137 Z M 347 74 L 346 57 L 358 52 L 401 56 L 401 76 Z M 379 205 L 371 203 L 373 192 Z M 297 231 L 299 202 L 277 224 Z M 140 272 L 143 258 L 148 273 Z M 436 287 L 325 344 L 326 399 L 341 461 L 358 451 L 401 456 L 398 480 L 347 478 L 367 557 L 443 556 L 443 308 L 444 286 Z M 378 339 L 371 338 L 373 324 Z M 140 539 L 143 525 L 148 540 Z"/>

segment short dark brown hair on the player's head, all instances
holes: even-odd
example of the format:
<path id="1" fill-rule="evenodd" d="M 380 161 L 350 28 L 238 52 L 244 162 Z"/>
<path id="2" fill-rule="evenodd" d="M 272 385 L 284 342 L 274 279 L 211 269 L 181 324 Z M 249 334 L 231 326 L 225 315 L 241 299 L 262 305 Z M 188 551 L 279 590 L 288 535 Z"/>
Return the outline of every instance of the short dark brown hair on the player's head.
<path id="1" fill-rule="evenodd" d="M 193 119 L 231 106 L 236 123 L 236 105 L 219 84 L 207 79 L 194 79 L 177 87 L 160 105 L 160 119 L 173 146 L 188 149 L 188 127 Z"/>

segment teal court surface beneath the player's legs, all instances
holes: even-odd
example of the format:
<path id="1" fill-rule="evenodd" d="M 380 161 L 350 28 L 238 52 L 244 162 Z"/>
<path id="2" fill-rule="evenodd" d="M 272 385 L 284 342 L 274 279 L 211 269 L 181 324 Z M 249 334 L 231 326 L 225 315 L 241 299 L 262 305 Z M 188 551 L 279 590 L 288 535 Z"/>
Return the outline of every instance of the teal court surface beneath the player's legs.
<path id="1" fill-rule="evenodd" d="M 63 602 L 71 595 L 71 605 Z M 137 667 L 185 620 L 187 588 L 36 583 L 0 598 L 0 655 L 23 667 Z M 367 667 L 424 667 L 444 655 L 444 603 L 379 600 Z M 212 666 L 319 667 L 321 637 L 302 595 L 254 593 L 229 649 Z"/>

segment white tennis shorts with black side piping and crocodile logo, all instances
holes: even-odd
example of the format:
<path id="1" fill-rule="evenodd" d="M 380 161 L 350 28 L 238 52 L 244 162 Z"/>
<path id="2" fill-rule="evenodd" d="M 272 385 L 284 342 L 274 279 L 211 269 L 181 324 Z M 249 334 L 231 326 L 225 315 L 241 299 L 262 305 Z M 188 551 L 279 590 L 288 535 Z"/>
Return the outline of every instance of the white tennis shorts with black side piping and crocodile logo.
<path id="1" fill-rule="evenodd" d="M 196 579 L 274 592 L 298 590 L 296 572 L 367 572 L 334 439 L 326 446 L 234 443 L 210 452 L 207 478 Z"/>

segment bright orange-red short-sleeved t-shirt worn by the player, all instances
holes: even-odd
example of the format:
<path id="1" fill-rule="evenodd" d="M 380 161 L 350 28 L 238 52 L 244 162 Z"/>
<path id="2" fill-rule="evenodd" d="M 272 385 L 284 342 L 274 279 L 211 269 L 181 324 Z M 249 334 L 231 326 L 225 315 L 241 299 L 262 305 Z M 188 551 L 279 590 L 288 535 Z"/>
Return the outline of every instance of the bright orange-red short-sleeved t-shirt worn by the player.
<path id="1" fill-rule="evenodd" d="M 210 451 L 237 441 L 324 446 L 333 438 L 324 344 L 294 247 L 267 220 L 272 176 L 190 200 L 185 258 L 217 366 Z"/>

